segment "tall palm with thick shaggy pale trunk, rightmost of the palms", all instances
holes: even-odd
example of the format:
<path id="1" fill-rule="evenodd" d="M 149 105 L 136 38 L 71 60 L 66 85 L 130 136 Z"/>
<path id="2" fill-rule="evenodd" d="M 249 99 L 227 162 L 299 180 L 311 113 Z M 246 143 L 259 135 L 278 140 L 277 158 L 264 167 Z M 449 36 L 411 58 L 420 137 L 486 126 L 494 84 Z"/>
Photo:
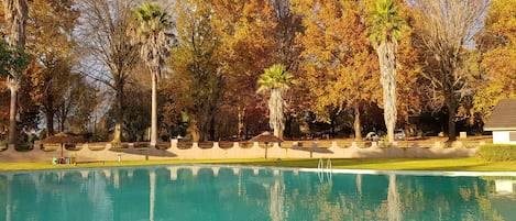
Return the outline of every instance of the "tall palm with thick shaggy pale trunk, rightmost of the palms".
<path id="1" fill-rule="evenodd" d="M 377 0 L 369 21 L 370 40 L 380 60 L 380 82 L 383 88 L 383 106 L 388 142 L 394 141 L 396 126 L 396 46 L 404 20 L 392 0 Z"/>

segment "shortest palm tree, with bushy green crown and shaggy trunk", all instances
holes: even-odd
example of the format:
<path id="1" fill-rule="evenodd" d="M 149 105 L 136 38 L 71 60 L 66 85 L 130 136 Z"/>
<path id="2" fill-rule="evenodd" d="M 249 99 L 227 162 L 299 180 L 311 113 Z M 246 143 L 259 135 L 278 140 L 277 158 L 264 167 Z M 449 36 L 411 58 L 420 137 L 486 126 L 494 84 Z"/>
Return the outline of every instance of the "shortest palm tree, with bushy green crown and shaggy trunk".
<path id="1" fill-rule="evenodd" d="M 274 135 L 283 139 L 283 130 L 285 129 L 285 118 L 283 109 L 285 100 L 283 92 L 285 92 L 290 85 L 296 84 L 293 75 L 286 71 L 283 65 L 273 65 L 265 69 L 265 73 L 260 76 L 257 80 L 259 92 L 271 92 L 268 99 L 268 125 L 274 130 Z"/>

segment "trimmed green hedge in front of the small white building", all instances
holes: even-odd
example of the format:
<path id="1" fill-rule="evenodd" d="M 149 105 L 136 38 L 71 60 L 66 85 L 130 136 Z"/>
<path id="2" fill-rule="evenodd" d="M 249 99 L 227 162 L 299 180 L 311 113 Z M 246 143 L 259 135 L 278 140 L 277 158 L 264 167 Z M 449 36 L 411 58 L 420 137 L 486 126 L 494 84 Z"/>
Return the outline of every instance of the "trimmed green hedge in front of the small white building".
<path id="1" fill-rule="evenodd" d="M 516 145 L 484 144 L 480 146 L 479 155 L 488 162 L 516 162 Z"/>

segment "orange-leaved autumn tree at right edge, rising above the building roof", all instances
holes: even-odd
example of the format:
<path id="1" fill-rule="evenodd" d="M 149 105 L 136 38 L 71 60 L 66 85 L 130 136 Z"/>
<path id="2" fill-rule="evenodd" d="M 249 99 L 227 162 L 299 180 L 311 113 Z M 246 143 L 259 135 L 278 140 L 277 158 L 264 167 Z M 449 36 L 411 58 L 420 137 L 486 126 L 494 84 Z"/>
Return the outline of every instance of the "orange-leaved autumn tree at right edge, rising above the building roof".
<path id="1" fill-rule="evenodd" d="M 516 2 L 494 0 L 475 42 L 480 51 L 479 88 L 473 97 L 474 112 L 482 121 L 501 99 L 516 98 Z"/>

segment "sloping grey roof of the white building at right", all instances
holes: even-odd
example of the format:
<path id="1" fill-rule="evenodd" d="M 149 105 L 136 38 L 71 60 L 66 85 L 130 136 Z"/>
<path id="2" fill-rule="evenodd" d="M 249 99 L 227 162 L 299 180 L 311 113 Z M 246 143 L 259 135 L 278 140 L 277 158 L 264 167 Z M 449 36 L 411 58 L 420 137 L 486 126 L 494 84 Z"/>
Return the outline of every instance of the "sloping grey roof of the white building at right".
<path id="1" fill-rule="evenodd" d="M 516 131 L 516 99 L 501 100 L 485 123 L 484 131 Z"/>

